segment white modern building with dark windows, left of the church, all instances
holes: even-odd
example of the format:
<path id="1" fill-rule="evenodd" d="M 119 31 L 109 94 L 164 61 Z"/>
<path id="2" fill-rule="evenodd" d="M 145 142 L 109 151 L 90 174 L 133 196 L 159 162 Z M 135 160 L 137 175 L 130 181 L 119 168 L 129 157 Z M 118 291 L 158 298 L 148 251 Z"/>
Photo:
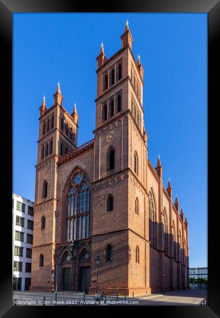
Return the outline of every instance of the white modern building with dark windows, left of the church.
<path id="1" fill-rule="evenodd" d="M 34 202 L 12 193 L 13 290 L 28 291 L 31 285 Z"/>

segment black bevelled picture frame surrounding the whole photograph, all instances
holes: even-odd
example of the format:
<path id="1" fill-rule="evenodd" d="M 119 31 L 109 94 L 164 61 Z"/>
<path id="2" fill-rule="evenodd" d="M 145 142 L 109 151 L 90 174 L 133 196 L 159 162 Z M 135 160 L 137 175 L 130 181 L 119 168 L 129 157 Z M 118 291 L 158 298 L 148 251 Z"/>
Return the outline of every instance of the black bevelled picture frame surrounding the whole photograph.
<path id="1" fill-rule="evenodd" d="M 220 33 L 220 2 L 219 0 L 117 0 L 110 1 L 110 3 L 103 2 L 85 2 L 70 1 L 70 0 L 0 0 L 0 39 L 1 39 L 1 66 L 4 67 L 4 72 L 1 73 L 1 120 L 6 123 L 5 128 L 2 129 L 2 165 L 5 171 L 8 171 L 7 178 L 3 179 L 8 183 L 7 192 L 3 198 L 6 203 L 2 213 L 6 214 L 7 224 L 11 224 L 11 214 L 8 203 L 11 202 L 12 183 L 10 180 L 10 172 L 12 161 L 12 147 L 10 140 L 10 133 L 8 129 L 8 121 L 12 123 L 12 14 L 15 12 L 206 12 L 208 13 L 208 269 L 209 269 L 209 286 L 208 286 L 208 306 L 154 306 L 154 315 L 159 312 L 163 317 L 218 317 L 220 314 L 219 295 L 220 285 L 218 283 L 218 233 L 219 222 L 216 217 L 218 211 L 218 186 L 214 185 L 218 182 L 218 155 L 215 159 L 211 156 L 211 141 L 218 136 L 219 123 L 217 122 L 215 110 L 219 107 L 219 87 L 217 78 L 217 65 L 219 57 L 218 50 L 218 34 Z M 86 9 L 86 11 L 85 11 Z M 25 98 L 25 96 L 21 96 Z M 216 107 L 215 107 L 216 106 Z M 190 114 L 189 114 L 190 115 Z M 7 120 L 6 120 L 7 118 Z M 212 121 L 212 124 L 211 124 Z M 2 126 L 3 127 L 3 126 Z M 6 130 L 7 127 L 7 130 Z M 5 136 L 8 141 L 5 142 Z M 215 144 L 215 143 L 213 143 Z M 218 143 L 215 144 L 217 146 Z M 215 151 L 218 148 L 215 147 Z M 28 146 L 27 146 L 28 150 Z M 213 158 L 213 159 L 212 159 Z M 215 161 L 214 161 L 215 160 Z M 196 162 L 195 162 L 196 164 Z M 215 170 L 214 170 L 215 169 Z M 206 171 L 201 172 L 206 173 Z M 10 187 L 11 186 L 11 187 Z M 10 200 L 9 200 L 10 199 Z M 214 205 L 215 203 L 215 205 Z M 7 211 L 7 212 L 6 212 Z M 216 212 L 216 213 L 215 213 Z M 5 224 L 5 222 L 4 222 Z M 193 230 L 193 227 L 192 227 Z M 12 306 L 12 266 L 11 266 L 11 227 L 7 227 L 6 233 L 2 240 L 2 263 L 3 269 L 0 278 L 0 315 L 2 317 L 39 317 L 50 311 L 56 309 L 57 311 L 64 310 L 64 307 L 41 307 L 41 306 Z M 86 306 L 85 306 L 86 307 Z M 84 307 L 84 308 L 85 308 Z M 65 310 L 72 310 L 75 313 L 76 308 L 65 307 Z M 79 308 L 79 307 L 78 307 Z M 91 314 L 92 310 L 97 307 L 89 307 Z M 110 313 L 115 307 L 106 306 L 99 308 L 99 314 L 110 316 Z M 139 311 L 135 307 L 135 312 Z M 46 310 L 47 309 L 47 310 Z M 81 308 L 80 308 L 81 309 Z M 133 307 L 117 307 L 123 311 L 131 311 Z M 150 306 L 144 308 L 145 315 L 149 314 Z M 102 312 L 100 311 L 102 310 Z M 58 314 L 58 312 L 57 312 Z M 59 315 L 59 314 L 58 314 Z M 62 315 L 62 314 L 61 314 Z"/>

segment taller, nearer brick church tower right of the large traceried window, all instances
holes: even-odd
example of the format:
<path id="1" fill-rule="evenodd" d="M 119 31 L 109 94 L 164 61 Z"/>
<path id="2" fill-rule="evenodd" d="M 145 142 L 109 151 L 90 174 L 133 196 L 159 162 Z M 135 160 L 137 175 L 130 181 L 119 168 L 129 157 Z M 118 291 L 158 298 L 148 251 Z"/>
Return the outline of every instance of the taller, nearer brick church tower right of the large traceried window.
<path id="1" fill-rule="evenodd" d="M 126 22 L 122 47 L 109 59 L 102 43 L 97 60 L 95 162 L 93 182 L 92 258 L 99 254 L 100 288 L 131 295 L 131 287 L 146 290 L 149 278 L 139 255 L 149 251 L 147 134 L 144 128 L 143 74 L 132 53 L 132 33 Z M 103 246 L 105 252 L 103 253 Z M 113 254 L 111 254 L 113 251 Z M 138 263 L 132 265 L 131 258 Z M 110 262 L 113 259 L 114 262 Z M 104 271 L 105 268 L 105 271 Z M 106 270 L 108 268 L 108 271 Z M 92 282 L 95 267 L 91 269 Z M 102 274 L 101 274 L 102 273 Z M 94 279 L 94 280 L 93 280 Z M 116 283 L 117 282 L 117 283 Z M 145 293 L 145 292 L 144 292 Z"/>

